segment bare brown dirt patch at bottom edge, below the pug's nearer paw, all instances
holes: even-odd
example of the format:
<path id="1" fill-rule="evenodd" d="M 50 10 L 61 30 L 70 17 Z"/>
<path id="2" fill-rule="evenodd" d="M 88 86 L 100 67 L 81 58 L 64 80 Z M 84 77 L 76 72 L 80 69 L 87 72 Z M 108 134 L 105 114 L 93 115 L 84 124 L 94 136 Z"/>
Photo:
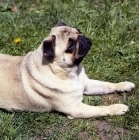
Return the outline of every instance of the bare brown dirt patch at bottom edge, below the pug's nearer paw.
<path id="1" fill-rule="evenodd" d="M 94 121 L 93 124 L 98 129 L 100 140 L 121 140 L 126 132 L 123 128 L 117 128 L 105 121 Z"/>

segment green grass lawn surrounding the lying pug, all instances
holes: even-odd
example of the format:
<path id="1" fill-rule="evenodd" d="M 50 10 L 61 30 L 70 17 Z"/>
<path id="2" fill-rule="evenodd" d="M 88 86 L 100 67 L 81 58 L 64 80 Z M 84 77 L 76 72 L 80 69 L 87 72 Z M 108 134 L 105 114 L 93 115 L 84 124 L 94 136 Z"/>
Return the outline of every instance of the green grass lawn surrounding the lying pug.
<path id="1" fill-rule="evenodd" d="M 16 9 L 17 8 L 17 9 Z M 0 52 L 25 55 L 38 47 L 57 22 L 78 27 L 93 42 L 83 63 L 90 78 L 119 82 L 132 81 L 130 93 L 89 96 L 91 105 L 125 103 L 124 116 L 68 120 L 57 112 L 5 112 L 0 110 L 1 140 L 100 140 L 103 136 L 94 122 L 108 122 L 113 139 L 139 139 L 139 2 L 137 0 L 1 0 Z M 15 44 L 14 39 L 21 42 Z M 110 100 L 109 100 L 110 99 Z M 104 137 L 105 138 L 105 137 Z"/>

